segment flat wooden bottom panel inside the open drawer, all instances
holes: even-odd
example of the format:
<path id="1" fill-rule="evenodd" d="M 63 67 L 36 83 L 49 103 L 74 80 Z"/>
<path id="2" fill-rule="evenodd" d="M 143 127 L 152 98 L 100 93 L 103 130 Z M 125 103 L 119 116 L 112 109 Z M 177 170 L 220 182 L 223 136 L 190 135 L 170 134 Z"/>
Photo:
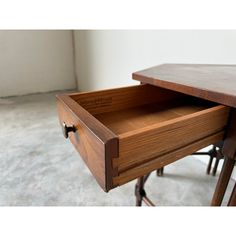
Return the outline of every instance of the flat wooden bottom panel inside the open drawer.
<path id="1" fill-rule="evenodd" d="M 189 115 L 209 107 L 211 107 L 210 104 L 185 98 L 179 101 L 156 102 L 119 111 L 100 113 L 96 114 L 95 117 L 116 135 L 122 136 L 127 132 Z"/>

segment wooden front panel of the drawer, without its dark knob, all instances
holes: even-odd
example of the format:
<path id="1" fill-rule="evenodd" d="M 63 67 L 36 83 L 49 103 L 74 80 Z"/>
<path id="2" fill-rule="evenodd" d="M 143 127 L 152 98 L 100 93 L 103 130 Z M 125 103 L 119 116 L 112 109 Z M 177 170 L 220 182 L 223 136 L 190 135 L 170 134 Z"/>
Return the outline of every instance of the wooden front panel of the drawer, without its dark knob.
<path id="1" fill-rule="evenodd" d="M 118 157 L 118 138 L 67 95 L 57 96 L 60 123 L 74 125 L 70 141 L 104 191 L 113 188 L 112 158 Z"/>

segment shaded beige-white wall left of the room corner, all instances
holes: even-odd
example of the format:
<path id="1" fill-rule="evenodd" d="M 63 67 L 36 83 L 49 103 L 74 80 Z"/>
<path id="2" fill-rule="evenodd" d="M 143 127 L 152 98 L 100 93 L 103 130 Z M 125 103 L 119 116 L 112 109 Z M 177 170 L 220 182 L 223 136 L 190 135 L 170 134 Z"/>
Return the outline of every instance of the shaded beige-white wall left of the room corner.
<path id="1" fill-rule="evenodd" d="M 71 31 L 0 31 L 0 97 L 75 87 Z"/>

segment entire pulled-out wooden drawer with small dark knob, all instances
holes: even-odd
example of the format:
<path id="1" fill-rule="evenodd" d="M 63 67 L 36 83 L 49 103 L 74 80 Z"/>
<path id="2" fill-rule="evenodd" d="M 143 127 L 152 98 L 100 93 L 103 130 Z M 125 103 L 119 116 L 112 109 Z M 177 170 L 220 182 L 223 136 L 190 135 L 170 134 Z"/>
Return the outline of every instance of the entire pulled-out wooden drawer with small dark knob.
<path id="1" fill-rule="evenodd" d="M 105 191 L 223 139 L 229 108 L 151 85 L 57 96 L 60 124 Z"/>

